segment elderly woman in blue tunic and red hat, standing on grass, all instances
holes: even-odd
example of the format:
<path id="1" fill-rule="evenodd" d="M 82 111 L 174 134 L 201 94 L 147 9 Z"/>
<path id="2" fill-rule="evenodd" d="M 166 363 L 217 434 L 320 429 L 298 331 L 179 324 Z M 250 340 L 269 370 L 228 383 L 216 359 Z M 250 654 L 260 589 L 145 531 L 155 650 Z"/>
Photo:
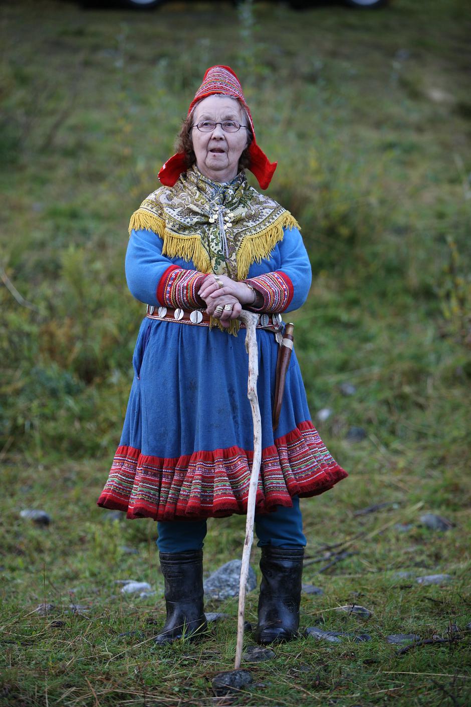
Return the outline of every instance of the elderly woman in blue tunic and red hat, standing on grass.
<path id="1" fill-rule="evenodd" d="M 299 497 L 347 476 L 311 423 L 294 351 L 272 426 L 281 313 L 299 308 L 311 267 L 292 215 L 266 189 L 276 168 L 256 144 L 242 87 L 213 66 L 191 102 L 162 186 L 131 217 L 126 279 L 147 305 L 133 356 L 121 442 L 98 504 L 157 520 L 167 622 L 155 638 L 196 638 L 203 611 L 206 519 L 246 513 L 253 458 L 242 308 L 259 312 L 262 463 L 255 531 L 261 547 L 256 640 L 299 628 L 306 538 Z"/>

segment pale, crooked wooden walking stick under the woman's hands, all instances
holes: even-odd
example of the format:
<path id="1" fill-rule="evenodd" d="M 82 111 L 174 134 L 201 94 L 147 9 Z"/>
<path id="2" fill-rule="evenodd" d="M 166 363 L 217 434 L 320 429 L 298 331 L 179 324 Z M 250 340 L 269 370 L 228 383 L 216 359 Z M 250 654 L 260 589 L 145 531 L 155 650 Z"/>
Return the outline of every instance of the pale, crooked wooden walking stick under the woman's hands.
<path id="1" fill-rule="evenodd" d="M 245 525 L 244 549 L 242 551 L 242 566 L 240 568 L 239 585 L 239 612 L 237 614 L 237 645 L 234 669 L 239 670 L 242 660 L 242 643 L 244 641 L 244 611 L 246 583 L 249 576 L 249 561 L 252 542 L 254 540 L 255 499 L 258 486 L 258 474 L 262 460 L 262 419 L 258 406 L 257 378 L 258 378 L 258 347 L 256 325 L 258 315 L 247 310 L 242 310 L 239 319 L 246 325 L 245 348 L 249 354 L 249 382 L 247 397 L 250 400 L 252 419 L 254 421 L 254 458 L 249 484 L 249 498 L 247 500 L 247 520 Z"/>

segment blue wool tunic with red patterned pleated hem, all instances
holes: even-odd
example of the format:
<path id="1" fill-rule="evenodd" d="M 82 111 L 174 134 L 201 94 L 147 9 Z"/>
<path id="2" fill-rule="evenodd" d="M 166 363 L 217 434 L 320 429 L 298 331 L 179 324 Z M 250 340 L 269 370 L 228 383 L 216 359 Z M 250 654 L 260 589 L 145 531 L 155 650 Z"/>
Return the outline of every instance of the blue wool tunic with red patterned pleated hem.
<path id="1" fill-rule="evenodd" d="M 162 255 L 162 238 L 132 230 L 126 279 L 143 303 L 164 305 L 162 279 L 193 262 Z M 309 293 L 311 267 L 297 228 L 283 238 L 248 279 L 282 273 L 289 294 L 283 312 L 299 308 Z M 278 427 L 272 428 L 279 345 L 257 329 L 258 399 L 262 465 L 256 512 L 292 506 L 293 496 L 314 496 L 347 476 L 311 423 L 295 351 L 287 370 Z M 208 326 L 144 317 L 133 355 L 134 379 L 124 428 L 98 504 L 128 518 L 201 519 L 246 513 L 253 423 L 247 398 L 245 329 L 237 336 Z"/>

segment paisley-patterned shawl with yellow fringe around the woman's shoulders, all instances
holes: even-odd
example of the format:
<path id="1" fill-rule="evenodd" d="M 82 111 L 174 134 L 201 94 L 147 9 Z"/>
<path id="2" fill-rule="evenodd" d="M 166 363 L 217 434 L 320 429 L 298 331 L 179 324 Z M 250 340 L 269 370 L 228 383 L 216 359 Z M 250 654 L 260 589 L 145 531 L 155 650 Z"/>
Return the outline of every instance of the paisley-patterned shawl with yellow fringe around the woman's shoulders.
<path id="1" fill-rule="evenodd" d="M 290 212 L 250 187 L 243 172 L 220 185 L 193 167 L 174 187 L 160 187 L 144 199 L 131 216 L 129 233 L 152 230 L 162 238 L 162 255 L 241 281 L 282 240 L 283 228 L 294 227 L 299 225 Z M 219 320 L 213 323 L 220 327 Z M 239 322 L 232 324 L 239 328 Z"/>

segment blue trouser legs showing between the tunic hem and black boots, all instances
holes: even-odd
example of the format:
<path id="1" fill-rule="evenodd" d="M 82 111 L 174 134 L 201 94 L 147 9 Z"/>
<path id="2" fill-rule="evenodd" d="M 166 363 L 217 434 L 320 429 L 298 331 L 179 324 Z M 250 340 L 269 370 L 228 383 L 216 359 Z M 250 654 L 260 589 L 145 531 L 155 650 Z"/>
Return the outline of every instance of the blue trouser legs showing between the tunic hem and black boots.
<path id="1" fill-rule="evenodd" d="M 305 547 L 302 532 L 302 514 L 299 498 L 294 496 L 292 508 L 278 506 L 273 513 L 255 515 L 255 534 L 258 547 Z M 157 547 L 160 552 L 201 550 L 206 537 L 205 520 L 160 520 L 157 522 Z"/>

